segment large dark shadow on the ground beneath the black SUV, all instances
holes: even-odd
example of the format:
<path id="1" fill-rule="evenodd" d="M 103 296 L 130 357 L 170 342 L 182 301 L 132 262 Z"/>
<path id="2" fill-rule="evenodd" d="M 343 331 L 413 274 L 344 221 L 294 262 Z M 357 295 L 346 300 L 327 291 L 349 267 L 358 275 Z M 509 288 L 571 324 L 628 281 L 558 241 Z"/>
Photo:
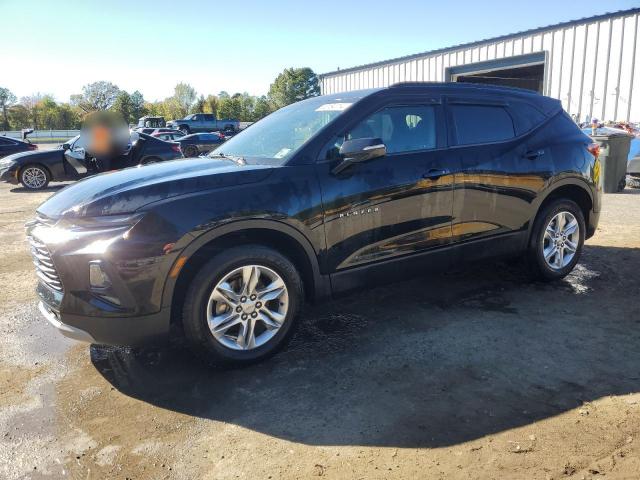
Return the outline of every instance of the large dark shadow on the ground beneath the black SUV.
<path id="1" fill-rule="evenodd" d="M 565 280 L 485 263 L 307 308 L 261 364 L 180 344 L 91 347 L 126 395 L 312 445 L 441 447 L 640 391 L 640 249 L 586 246 Z M 635 305 L 635 306 L 634 306 Z"/>

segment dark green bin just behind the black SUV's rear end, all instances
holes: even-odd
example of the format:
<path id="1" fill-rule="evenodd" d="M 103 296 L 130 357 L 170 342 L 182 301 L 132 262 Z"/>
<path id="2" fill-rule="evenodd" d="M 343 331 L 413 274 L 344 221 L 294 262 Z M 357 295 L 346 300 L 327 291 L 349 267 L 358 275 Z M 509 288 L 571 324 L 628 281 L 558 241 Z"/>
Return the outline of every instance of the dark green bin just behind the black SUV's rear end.
<path id="1" fill-rule="evenodd" d="M 603 191 L 615 193 L 624 190 L 631 135 L 624 130 L 599 128 L 591 138 L 600 145 Z"/>

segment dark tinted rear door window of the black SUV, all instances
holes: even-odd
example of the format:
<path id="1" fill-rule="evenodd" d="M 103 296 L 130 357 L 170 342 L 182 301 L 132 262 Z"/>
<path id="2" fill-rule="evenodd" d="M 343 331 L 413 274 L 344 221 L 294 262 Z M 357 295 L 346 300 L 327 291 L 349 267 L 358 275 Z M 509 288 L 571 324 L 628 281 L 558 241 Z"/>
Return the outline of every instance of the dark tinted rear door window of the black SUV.
<path id="1" fill-rule="evenodd" d="M 513 119 L 504 107 L 450 105 L 458 145 L 474 145 L 515 137 Z"/>

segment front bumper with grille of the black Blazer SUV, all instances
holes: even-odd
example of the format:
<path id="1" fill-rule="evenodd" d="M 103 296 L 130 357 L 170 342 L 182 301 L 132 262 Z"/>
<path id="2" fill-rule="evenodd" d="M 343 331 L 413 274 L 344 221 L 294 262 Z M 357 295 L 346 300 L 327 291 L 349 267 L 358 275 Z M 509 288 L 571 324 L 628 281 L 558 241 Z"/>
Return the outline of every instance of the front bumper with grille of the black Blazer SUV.
<path id="1" fill-rule="evenodd" d="M 64 336 L 135 346 L 169 333 L 171 308 L 162 306 L 162 293 L 178 253 L 163 250 L 167 242 L 160 236 L 136 240 L 132 232 L 112 229 L 47 244 L 28 227 L 40 311 Z M 89 266 L 95 262 L 108 275 L 107 287 L 92 283 Z"/>

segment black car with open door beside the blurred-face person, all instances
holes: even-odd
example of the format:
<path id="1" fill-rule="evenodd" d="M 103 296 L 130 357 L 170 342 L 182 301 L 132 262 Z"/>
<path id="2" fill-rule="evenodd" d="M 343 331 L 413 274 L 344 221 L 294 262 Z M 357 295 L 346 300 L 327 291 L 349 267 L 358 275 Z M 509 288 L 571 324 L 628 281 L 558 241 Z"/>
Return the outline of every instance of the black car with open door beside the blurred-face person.
<path id="1" fill-rule="evenodd" d="M 182 153 L 177 143 L 134 133 L 127 151 L 112 159 L 111 164 L 119 169 L 180 157 Z M 0 180 L 21 183 L 29 190 L 42 190 L 51 181 L 78 180 L 99 171 L 95 162 L 85 154 L 83 138 L 79 135 L 57 150 L 17 153 L 0 160 Z"/>

